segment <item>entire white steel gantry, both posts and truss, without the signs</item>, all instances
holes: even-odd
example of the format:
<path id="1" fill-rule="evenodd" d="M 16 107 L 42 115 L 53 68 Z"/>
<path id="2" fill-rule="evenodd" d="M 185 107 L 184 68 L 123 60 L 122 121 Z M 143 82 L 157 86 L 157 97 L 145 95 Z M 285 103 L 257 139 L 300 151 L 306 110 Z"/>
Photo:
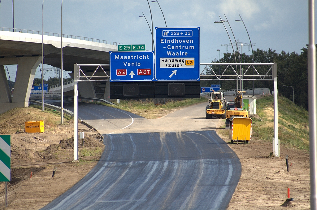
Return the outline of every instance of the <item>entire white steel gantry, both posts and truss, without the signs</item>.
<path id="1" fill-rule="evenodd" d="M 277 63 L 200 63 L 205 66 L 201 72 L 200 80 L 261 80 L 274 81 L 274 137 L 273 137 L 273 154 L 276 157 L 280 156 L 280 140 L 278 139 L 278 122 L 277 122 Z M 226 66 L 222 74 L 216 74 L 213 70 L 214 66 Z M 110 81 L 109 75 L 104 70 L 103 66 L 109 64 L 74 64 L 74 161 L 78 162 L 78 82 L 96 82 L 96 81 Z M 238 72 L 238 66 L 240 73 Z M 243 70 L 243 66 L 247 66 Z M 258 66 L 263 66 L 264 69 Z M 92 75 L 86 75 L 82 68 L 95 67 Z M 236 68 L 235 68 L 236 67 Z M 266 69 L 265 69 L 266 68 Z M 204 74 L 208 69 L 212 74 Z M 223 68 L 222 68 L 223 69 Z M 255 70 L 256 74 L 251 73 Z M 261 70 L 260 70 L 261 69 Z M 230 74 L 230 71 L 233 72 Z M 77 147 L 75 146 L 77 145 Z"/>

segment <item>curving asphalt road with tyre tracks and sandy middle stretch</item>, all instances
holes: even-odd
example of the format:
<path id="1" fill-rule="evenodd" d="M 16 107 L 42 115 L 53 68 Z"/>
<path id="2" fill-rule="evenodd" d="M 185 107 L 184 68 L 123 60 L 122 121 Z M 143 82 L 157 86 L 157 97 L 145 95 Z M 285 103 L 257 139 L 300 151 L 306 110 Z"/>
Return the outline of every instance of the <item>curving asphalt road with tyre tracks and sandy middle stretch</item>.
<path id="1" fill-rule="evenodd" d="M 241 164 L 214 131 L 218 119 L 204 119 L 205 106 L 148 120 L 79 103 L 79 116 L 104 136 L 104 153 L 82 180 L 42 209 L 226 209 Z"/>

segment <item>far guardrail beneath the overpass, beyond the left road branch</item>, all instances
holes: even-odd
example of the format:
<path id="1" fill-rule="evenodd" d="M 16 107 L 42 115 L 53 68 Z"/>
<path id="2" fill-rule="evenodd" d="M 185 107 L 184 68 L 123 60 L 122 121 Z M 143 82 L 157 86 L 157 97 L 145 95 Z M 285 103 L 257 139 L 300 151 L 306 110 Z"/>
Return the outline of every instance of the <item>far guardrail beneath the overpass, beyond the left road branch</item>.
<path id="1" fill-rule="evenodd" d="M 42 99 L 42 93 L 32 93 L 30 94 L 30 99 Z M 53 94 L 53 93 L 44 93 L 44 99 L 54 99 L 54 100 L 61 100 L 61 94 Z M 64 101 L 74 101 L 74 96 L 63 95 Z M 100 102 L 100 103 L 107 103 L 114 106 L 118 106 L 113 102 L 109 102 L 105 99 L 99 98 L 89 98 L 89 97 L 80 97 L 78 96 L 78 102 Z"/>

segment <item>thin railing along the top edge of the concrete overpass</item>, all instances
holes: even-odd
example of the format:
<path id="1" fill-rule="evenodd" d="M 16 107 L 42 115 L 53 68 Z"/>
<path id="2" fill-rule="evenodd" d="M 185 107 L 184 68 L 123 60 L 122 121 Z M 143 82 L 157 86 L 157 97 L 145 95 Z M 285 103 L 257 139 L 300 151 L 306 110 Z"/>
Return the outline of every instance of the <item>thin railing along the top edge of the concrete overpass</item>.
<path id="1" fill-rule="evenodd" d="M 13 28 L 0 27 L 0 30 L 42 35 L 42 31 L 27 30 L 27 29 L 13 29 Z M 45 31 L 43 32 L 43 35 L 61 37 L 61 34 L 45 32 Z M 63 34 L 63 38 L 80 39 L 80 40 L 85 40 L 85 41 L 90 41 L 90 42 L 111 44 L 111 41 L 102 40 L 102 39 L 94 39 L 94 38 L 89 38 L 89 37 L 84 37 L 84 36 L 74 36 L 74 35 Z M 118 45 L 118 44 L 116 42 L 112 42 L 112 45 Z"/>

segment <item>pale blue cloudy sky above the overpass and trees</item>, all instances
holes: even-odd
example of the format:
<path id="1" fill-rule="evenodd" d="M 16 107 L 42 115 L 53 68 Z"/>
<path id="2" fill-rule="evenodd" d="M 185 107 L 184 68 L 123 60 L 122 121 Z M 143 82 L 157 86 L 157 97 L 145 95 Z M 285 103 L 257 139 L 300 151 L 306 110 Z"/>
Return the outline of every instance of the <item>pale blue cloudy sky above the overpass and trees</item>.
<path id="1" fill-rule="evenodd" d="M 280 53 L 301 53 L 308 44 L 307 0 L 158 0 L 168 27 L 200 27 L 200 62 L 211 62 L 231 52 L 232 47 L 220 17 L 228 18 L 236 39 L 249 43 L 253 49 Z M 164 27 L 165 22 L 158 3 L 149 0 L 154 27 Z M 151 50 L 151 14 L 146 0 L 63 0 L 63 34 L 84 36 L 123 44 L 146 44 Z M 220 17 L 219 17 L 220 15 Z M 224 16 L 225 15 L 225 16 Z M 61 33 L 61 0 L 44 0 L 43 25 L 45 32 Z M 15 28 L 42 31 L 42 0 L 14 1 Z M 317 22 L 317 21 L 315 21 Z M 12 1 L 1 0 L 0 27 L 12 28 Z M 234 38 L 226 24 L 231 40 Z M 316 26 L 317 29 L 317 26 Z M 1 33 L 1 32 L 0 32 Z M 317 33 L 316 33 L 317 34 Z M 317 40 L 317 37 L 316 37 Z M 244 44 L 243 53 L 252 51 Z M 44 68 L 49 68 L 45 66 Z M 8 66 L 14 81 L 16 65 Z M 39 70 L 39 69 L 38 69 Z M 47 79 L 53 72 L 47 72 Z M 37 71 L 36 78 L 41 74 Z"/>

